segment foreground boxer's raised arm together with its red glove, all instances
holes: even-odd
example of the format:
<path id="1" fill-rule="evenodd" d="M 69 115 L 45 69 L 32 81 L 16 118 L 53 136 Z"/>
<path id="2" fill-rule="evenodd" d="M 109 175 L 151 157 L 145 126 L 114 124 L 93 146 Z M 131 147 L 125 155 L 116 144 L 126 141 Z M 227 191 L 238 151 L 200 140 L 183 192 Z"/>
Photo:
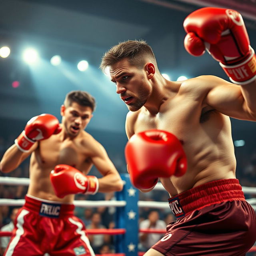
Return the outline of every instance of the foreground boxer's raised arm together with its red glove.
<path id="1" fill-rule="evenodd" d="M 189 14 L 183 25 L 188 33 L 184 40 L 186 50 L 194 56 L 208 50 L 230 80 L 238 84 L 214 77 L 207 82 L 206 78 L 206 87 L 212 84 L 205 103 L 228 116 L 255 121 L 256 56 L 242 16 L 231 9 L 205 7 Z"/>

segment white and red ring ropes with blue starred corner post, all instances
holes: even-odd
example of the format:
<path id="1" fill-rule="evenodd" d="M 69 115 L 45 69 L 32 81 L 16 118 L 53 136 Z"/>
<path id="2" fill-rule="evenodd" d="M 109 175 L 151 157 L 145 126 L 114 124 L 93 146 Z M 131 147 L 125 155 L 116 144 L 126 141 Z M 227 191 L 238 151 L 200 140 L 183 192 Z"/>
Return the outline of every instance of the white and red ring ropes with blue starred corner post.
<path id="1" fill-rule="evenodd" d="M 166 202 L 153 202 L 153 201 L 140 201 L 139 190 L 135 189 L 128 174 L 121 174 L 121 178 L 124 182 L 124 188 L 120 192 L 116 192 L 116 200 L 74 200 L 74 205 L 83 208 L 96 208 L 96 207 L 116 207 L 115 223 L 116 228 L 113 229 L 88 229 L 87 234 L 109 234 L 115 236 L 115 251 L 112 254 L 96 254 L 96 256 L 142 256 L 144 252 L 138 252 L 139 232 L 144 233 L 158 233 L 165 234 L 166 230 L 156 229 L 139 229 L 139 208 L 148 207 L 154 209 L 170 209 L 168 201 Z M 30 180 L 28 178 L 12 178 L 12 177 L 0 177 L 0 184 L 12 185 L 12 186 L 28 186 Z M 154 190 L 164 190 L 161 183 L 158 183 Z M 246 197 L 250 194 L 256 194 L 256 188 L 242 187 L 242 190 Z M 246 199 L 254 210 L 256 211 L 256 198 Z M 0 206 L 22 206 L 24 199 L 0 199 Z M 171 211 L 170 211 L 171 212 Z M 0 232 L 0 236 L 11 236 L 12 232 Z M 249 252 L 256 252 L 256 246 L 252 247 Z"/>

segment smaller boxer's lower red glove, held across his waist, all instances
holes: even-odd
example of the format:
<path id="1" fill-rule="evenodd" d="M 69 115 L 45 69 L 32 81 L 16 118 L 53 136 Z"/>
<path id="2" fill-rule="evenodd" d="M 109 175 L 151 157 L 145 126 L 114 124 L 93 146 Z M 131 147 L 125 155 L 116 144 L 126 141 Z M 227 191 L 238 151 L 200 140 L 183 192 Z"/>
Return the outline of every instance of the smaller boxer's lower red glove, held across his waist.
<path id="1" fill-rule="evenodd" d="M 58 164 L 50 173 L 50 180 L 56 196 L 63 198 L 69 194 L 96 194 L 99 188 L 98 178 L 85 176 L 76 168 L 67 164 Z"/>

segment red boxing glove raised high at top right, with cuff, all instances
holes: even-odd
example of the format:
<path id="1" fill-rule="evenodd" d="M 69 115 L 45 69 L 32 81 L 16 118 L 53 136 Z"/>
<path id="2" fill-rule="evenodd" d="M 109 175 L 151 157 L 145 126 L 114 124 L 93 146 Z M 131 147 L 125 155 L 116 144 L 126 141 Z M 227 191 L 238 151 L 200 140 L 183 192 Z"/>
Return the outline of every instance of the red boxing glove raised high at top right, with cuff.
<path id="1" fill-rule="evenodd" d="M 200 56 L 206 48 L 235 84 L 256 79 L 256 56 L 239 12 L 205 7 L 189 14 L 183 26 L 188 33 L 184 46 L 190 54 Z"/>

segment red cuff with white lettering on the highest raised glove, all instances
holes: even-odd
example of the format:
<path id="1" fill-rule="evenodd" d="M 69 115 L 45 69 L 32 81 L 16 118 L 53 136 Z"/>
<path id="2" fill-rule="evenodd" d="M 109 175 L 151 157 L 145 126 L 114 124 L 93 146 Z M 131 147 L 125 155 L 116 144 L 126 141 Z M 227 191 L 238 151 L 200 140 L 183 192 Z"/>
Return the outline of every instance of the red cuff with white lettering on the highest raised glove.
<path id="1" fill-rule="evenodd" d="M 240 64 L 227 66 L 220 62 L 220 66 L 234 84 L 249 84 L 256 79 L 256 56 L 254 50 L 251 47 L 250 49 L 250 56 Z"/>

